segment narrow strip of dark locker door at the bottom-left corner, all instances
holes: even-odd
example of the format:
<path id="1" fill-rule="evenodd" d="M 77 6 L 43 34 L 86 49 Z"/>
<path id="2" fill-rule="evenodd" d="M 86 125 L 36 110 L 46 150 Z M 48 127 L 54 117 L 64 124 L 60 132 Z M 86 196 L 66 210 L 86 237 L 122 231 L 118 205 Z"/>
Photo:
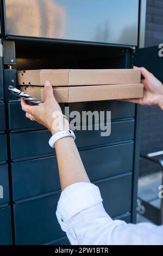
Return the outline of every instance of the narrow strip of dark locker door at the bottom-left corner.
<path id="1" fill-rule="evenodd" d="M 0 207 L 0 245 L 12 245 L 10 206 Z"/>

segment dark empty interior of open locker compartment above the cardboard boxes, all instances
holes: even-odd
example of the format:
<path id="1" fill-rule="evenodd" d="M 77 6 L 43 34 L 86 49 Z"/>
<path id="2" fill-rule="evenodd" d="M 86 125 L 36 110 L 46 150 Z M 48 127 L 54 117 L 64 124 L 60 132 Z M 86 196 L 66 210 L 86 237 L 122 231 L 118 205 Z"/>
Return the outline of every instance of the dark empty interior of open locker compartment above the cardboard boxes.
<path id="1" fill-rule="evenodd" d="M 42 40 L 15 40 L 16 70 L 123 69 L 132 48 Z"/>

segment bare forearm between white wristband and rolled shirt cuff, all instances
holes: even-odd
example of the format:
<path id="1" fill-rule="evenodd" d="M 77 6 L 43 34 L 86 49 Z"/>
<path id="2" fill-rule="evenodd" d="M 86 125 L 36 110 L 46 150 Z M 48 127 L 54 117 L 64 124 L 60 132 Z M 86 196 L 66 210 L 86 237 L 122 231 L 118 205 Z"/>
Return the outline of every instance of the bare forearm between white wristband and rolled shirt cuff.
<path id="1" fill-rule="evenodd" d="M 59 139 L 55 151 L 62 190 L 73 183 L 90 182 L 72 137 Z"/>

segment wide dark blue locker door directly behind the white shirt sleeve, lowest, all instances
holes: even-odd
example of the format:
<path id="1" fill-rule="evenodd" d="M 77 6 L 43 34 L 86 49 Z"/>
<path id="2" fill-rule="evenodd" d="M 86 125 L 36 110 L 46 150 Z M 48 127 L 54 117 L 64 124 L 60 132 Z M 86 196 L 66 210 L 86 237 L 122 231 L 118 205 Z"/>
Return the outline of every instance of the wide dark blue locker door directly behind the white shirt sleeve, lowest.
<path id="1" fill-rule="evenodd" d="M 99 180 L 96 184 L 101 189 L 104 207 L 108 214 L 116 217 L 131 211 L 130 173 Z M 114 194 L 112 194 L 113 189 Z M 59 196 L 60 193 L 51 193 L 14 204 L 16 245 L 40 245 L 65 235 L 55 215 Z"/>

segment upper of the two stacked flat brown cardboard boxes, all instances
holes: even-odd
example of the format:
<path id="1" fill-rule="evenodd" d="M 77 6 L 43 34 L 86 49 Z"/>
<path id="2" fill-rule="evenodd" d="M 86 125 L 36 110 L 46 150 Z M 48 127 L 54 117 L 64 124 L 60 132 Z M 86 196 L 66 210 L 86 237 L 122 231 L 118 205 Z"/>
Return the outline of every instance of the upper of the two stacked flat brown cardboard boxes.
<path id="1" fill-rule="evenodd" d="M 137 84 L 141 81 L 140 70 L 134 69 L 58 69 L 17 71 L 21 85 L 89 86 L 101 84 Z"/>

